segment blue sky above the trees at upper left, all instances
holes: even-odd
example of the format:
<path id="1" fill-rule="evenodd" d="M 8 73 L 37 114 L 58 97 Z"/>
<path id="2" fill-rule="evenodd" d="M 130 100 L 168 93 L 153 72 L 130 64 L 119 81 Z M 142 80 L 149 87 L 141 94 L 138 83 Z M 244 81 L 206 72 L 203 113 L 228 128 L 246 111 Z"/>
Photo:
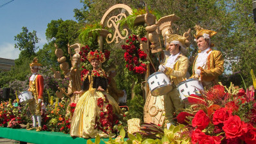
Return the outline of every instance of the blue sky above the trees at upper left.
<path id="1" fill-rule="evenodd" d="M 10 2 L 10 3 L 9 3 Z M 0 58 L 15 60 L 19 49 L 14 36 L 27 27 L 40 38 L 36 47 L 47 43 L 45 31 L 51 20 L 75 20 L 73 10 L 83 8 L 80 0 L 0 0 Z"/>

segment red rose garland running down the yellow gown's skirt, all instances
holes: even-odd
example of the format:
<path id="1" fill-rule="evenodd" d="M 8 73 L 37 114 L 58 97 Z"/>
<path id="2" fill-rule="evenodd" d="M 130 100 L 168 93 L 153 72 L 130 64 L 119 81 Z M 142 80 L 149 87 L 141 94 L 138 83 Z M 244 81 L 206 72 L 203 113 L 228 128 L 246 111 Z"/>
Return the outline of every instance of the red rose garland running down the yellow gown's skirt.
<path id="1" fill-rule="evenodd" d="M 97 106 L 100 108 L 99 117 L 95 118 L 95 129 L 111 134 L 113 132 L 113 126 L 118 124 L 118 117 L 113 113 L 113 106 L 109 104 L 107 96 L 101 97 L 97 100 Z"/>

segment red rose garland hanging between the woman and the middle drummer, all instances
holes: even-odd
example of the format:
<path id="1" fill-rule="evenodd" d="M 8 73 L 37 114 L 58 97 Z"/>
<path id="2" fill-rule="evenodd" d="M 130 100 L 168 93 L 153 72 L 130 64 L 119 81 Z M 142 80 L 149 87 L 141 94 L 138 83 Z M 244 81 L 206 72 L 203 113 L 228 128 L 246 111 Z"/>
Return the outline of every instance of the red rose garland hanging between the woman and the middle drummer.
<path id="1" fill-rule="evenodd" d="M 143 42 L 147 42 L 147 38 L 141 38 Z M 122 45 L 125 50 L 125 67 L 136 74 L 144 74 L 147 71 L 147 54 L 140 50 L 140 42 L 136 35 L 129 36 L 125 41 L 127 44 Z"/>

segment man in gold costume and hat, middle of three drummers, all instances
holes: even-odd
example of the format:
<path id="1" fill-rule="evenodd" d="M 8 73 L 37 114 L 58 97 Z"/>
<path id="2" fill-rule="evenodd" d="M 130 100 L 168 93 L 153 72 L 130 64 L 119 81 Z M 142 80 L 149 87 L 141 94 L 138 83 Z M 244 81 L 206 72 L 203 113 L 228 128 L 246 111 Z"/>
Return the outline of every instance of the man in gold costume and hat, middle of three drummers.
<path id="1" fill-rule="evenodd" d="M 164 110 L 166 117 L 167 129 L 170 125 L 175 125 L 174 120 L 177 110 L 184 108 L 184 104 L 181 102 L 179 92 L 176 86 L 186 78 L 188 70 L 188 58 L 184 56 L 186 51 L 185 45 L 186 38 L 180 35 L 170 35 L 167 39 L 168 49 L 170 56 L 166 59 L 163 65 L 159 65 L 159 70 L 164 72 L 170 77 L 172 81 L 172 91 L 164 95 Z"/>

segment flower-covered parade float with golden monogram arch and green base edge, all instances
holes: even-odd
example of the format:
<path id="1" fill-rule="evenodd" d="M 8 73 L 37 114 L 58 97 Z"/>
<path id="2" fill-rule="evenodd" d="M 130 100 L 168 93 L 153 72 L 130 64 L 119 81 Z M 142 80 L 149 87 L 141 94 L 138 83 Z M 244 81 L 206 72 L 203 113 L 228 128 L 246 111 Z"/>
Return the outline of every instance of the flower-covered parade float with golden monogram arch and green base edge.
<path id="1" fill-rule="evenodd" d="M 122 9 L 122 13 L 109 16 L 109 13 L 116 9 Z M 255 143 L 256 79 L 253 72 L 251 72 L 253 86 L 246 90 L 237 88 L 232 83 L 229 87 L 220 83 L 209 91 L 192 88 L 196 93 L 184 95 L 183 102 L 186 102 L 186 108 L 180 109 L 181 112 L 177 115 L 179 124 L 171 125 L 170 129 L 165 128 L 163 96 L 155 97 L 163 93 L 152 94 L 148 86 L 150 83 L 147 81 L 148 77 L 157 71 L 155 65 L 163 63 L 168 57 L 164 51 L 167 47 L 166 39 L 168 34 L 173 33 L 172 23 L 179 20 L 179 17 L 173 14 L 157 20 L 153 12 L 150 13 L 147 8 L 143 13 L 138 11 L 136 15 L 134 13 L 127 5 L 116 4 L 103 15 L 99 24 L 81 29 L 79 35 L 81 44 L 72 44 L 67 47 L 72 60 L 71 67 L 63 51 L 55 45 L 55 54 L 58 58 L 56 61 L 60 64 L 66 79 L 61 78 L 61 72 L 54 69 L 52 73 L 48 71 L 48 74 L 54 75 L 52 79 L 58 79 L 59 83 L 65 81 L 65 83 L 62 86 L 58 84 L 55 95 L 48 93 L 48 99 L 45 102 L 47 106 L 42 114 L 43 131 L 20 129 L 29 127 L 31 123 L 27 102 L 22 102 L 20 106 L 13 106 L 12 100 L 9 100 L 0 104 L 0 137 L 29 143 Z M 127 17 L 127 15 L 131 16 Z M 110 18 L 107 19 L 107 17 Z M 127 27 L 120 31 L 120 24 L 122 26 L 127 24 Z M 134 34 L 131 33 L 131 29 L 128 29 L 129 25 L 141 24 L 141 33 Z M 190 29 L 183 35 L 186 38 L 187 47 L 189 31 Z M 131 95 L 135 97 L 139 87 L 145 99 L 143 122 L 133 118 L 129 108 L 123 107 L 123 115 L 115 120 L 115 126 L 113 126 L 115 130 L 111 135 L 113 138 L 99 136 L 92 139 L 72 138 L 69 135 L 70 120 L 80 96 L 74 92 L 80 90 L 83 81 L 81 76 L 92 68 L 86 61 L 86 57 L 90 51 L 99 50 L 104 52 L 108 60 L 111 52 L 104 45 L 113 42 L 118 44 L 120 40 L 125 41 L 124 45 L 118 47 L 124 50 L 127 70 L 125 73 L 134 80 Z M 98 47 L 92 47 L 92 45 Z M 168 88 L 168 84 L 164 86 Z M 19 93 L 16 97 L 19 103 Z M 104 126 L 103 123 L 102 125 Z"/>

